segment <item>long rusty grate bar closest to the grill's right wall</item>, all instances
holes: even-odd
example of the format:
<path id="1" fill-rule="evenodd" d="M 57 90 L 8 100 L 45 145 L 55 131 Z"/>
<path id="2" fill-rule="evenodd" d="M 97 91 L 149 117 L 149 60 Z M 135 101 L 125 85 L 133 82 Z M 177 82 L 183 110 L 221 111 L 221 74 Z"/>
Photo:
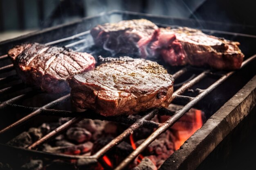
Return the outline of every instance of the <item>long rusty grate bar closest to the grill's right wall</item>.
<path id="1" fill-rule="evenodd" d="M 250 57 L 248 60 L 244 61 L 241 68 L 243 68 L 247 63 L 256 58 L 256 55 Z M 203 72 L 205 74 L 205 72 Z M 218 79 L 215 83 L 210 85 L 207 89 L 202 91 L 198 96 L 196 96 L 193 100 L 191 100 L 187 105 L 185 105 L 181 110 L 178 110 L 171 118 L 166 120 L 155 132 L 153 132 L 144 142 L 142 142 L 124 161 L 122 161 L 115 170 L 122 170 L 128 164 L 135 159 L 151 142 L 153 142 L 159 135 L 164 133 L 168 128 L 170 128 L 177 120 L 179 120 L 189 109 L 191 109 L 195 104 L 197 104 L 202 98 L 207 96 L 213 89 L 216 89 L 220 84 L 222 84 L 227 78 L 229 78 L 234 71 L 229 72 Z M 188 85 L 184 85 L 188 86 Z M 182 88 L 182 87 L 181 87 Z M 180 92 L 184 92 L 184 90 L 180 90 Z M 177 91 L 176 91 L 177 92 Z M 178 93 L 176 93 L 178 94 Z"/>

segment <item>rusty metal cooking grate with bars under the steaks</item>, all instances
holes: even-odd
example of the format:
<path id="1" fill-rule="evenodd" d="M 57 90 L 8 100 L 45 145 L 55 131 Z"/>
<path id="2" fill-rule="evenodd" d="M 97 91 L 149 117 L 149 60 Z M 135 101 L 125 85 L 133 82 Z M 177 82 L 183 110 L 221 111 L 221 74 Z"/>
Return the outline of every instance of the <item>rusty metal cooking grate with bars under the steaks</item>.
<path id="1" fill-rule="evenodd" d="M 68 41 L 75 39 L 77 37 L 80 37 L 82 35 L 89 34 L 89 31 L 85 31 L 76 35 L 73 35 L 71 37 L 66 37 L 63 39 L 59 39 L 56 41 L 52 41 L 49 43 L 46 43 L 45 45 L 54 45 L 63 41 Z M 241 35 L 243 36 L 243 35 Z M 247 35 L 245 35 L 247 36 Z M 66 45 L 65 47 L 70 48 L 72 46 L 75 46 L 76 44 L 80 44 L 81 42 L 85 41 L 85 39 L 81 39 L 79 41 L 72 42 L 71 44 Z M 85 47 L 83 47 L 85 48 Z M 77 49 L 76 51 L 81 50 L 81 48 Z M 0 56 L 0 60 L 7 59 L 7 55 Z M 245 67 L 250 61 L 256 59 L 256 55 L 250 57 L 249 59 L 245 60 L 242 64 L 242 68 Z M 13 70 L 13 64 L 5 65 L 2 68 L 0 68 L 0 73 L 9 72 L 10 70 Z M 29 153 L 31 155 L 41 155 L 43 157 L 52 157 L 56 159 L 78 159 L 80 164 L 86 165 L 90 163 L 98 162 L 98 160 L 103 157 L 109 150 L 111 150 L 113 147 L 117 146 L 120 142 L 122 142 L 126 137 L 128 137 L 130 134 L 134 133 L 136 130 L 138 130 L 141 127 L 150 127 L 150 128 L 157 128 L 149 137 L 146 138 L 146 140 L 138 146 L 126 159 L 124 159 L 116 168 L 115 170 L 121 170 L 124 169 L 133 159 L 135 159 L 151 142 L 153 142 L 159 135 L 164 133 L 168 128 L 170 128 L 179 118 L 181 118 L 184 113 L 189 111 L 195 104 L 197 104 L 202 98 L 207 96 L 213 89 L 218 87 L 221 83 L 223 83 L 227 78 L 229 78 L 232 74 L 234 74 L 234 71 L 232 72 L 226 72 L 224 74 L 216 73 L 212 70 L 205 70 L 205 69 L 198 69 L 193 68 L 190 66 L 186 66 L 182 68 L 181 70 L 177 71 L 175 74 L 173 74 L 173 77 L 176 79 L 186 72 L 194 72 L 200 70 L 200 74 L 193 78 L 191 81 L 184 83 L 179 89 L 177 89 L 173 93 L 174 100 L 182 100 L 187 102 L 187 104 L 180 110 L 174 111 L 174 110 L 168 110 L 165 108 L 156 108 L 152 109 L 151 111 L 144 113 L 144 116 L 142 116 L 139 119 L 132 119 L 132 118 L 126 118 L 124 116 L 118 116 L 118 117 L 104 117 L 101 115 L 98 115 L 97 113 L 94 113 L 93 111 L 87 110 L 83 113 L 79 112 L 72 112 L 72 111 L 65 111 L 65 110 L 56 110 L 51 109 L 52 107 L 56 105 L 61 105 L 66 100 L 70 99 L 70 94 L 66 94 L 62 96 L 61 98 L 58 98 L 54 101 L 49 102 L 48 104 L 42 106 L 42 107 L 24 107 L 22 105 L 16 105 L 15 102 L 22 100 L 24 98 L 29 98 L 31 96 L 37 95 L 38 89 L 37 88 L 29 88 L 29 92 L 26 92 L 24 94 L 21 94 L 19 96 L 16 96 L 14 98 L 11 98 L 9 100 L 6 100 L 4 102 L 0 103 L 0 110 L 7 108 L 7 107 L 15 107 L 17 109 L 24 109 L 29 110 L 31 113 L 29 113 L 27 116 L 21 118 L 20 120 L 14 122 L 13 124 L 7 126 L 6 128 L 0 130 L 0 135 L 7 133 L 8 131 L 11 131 L 12 129 L 24 124 L 25 122 L 32 120 L 38 115 L 47 115 L 47 116 L 60 116 L 60 117 L 72 117 L 71 120 L 66 122 L 65 124 L 59 126 L 54 131 L 48 133 L 47 135 L 43 136 L 41 139 L 38 139 L 38 141 L 34 142 L 27 148 L 18 148 L 15 146 L 7 146 L 6 144 L 0 144 L 2 147 L 7 147 L 9 149 L 15 149 L 19 152 L 25 152 Z M 196 97 L 190 97 L 190 96 L 184 96 L 182 95 L 186 90 L 189 90 L 193 85 L 196 83 L 199 83 L 203 78 L 206 78 L 207 76 L 214 76 L 215 78 L 218 77 L 217 81 L 210 85 L 206 89 L 197 89 Z M 0 78 L 0 83 L 9 82 L 11 80 L 18 80 L 18 77 L 16 75 L 11 75 L 7 77 Z M 9 91 L 13 90 L 19 90 L 23 89 L 24 86 L 22 84 L 13 85 L 11 87 L 5 87 L 3 89 L 0 89 L 0 95 L 3 95 Z M 156 115 L 169 115 L 171 116 L 166 122 L 164 123 L 156 123 L 151 121 L 151 119 Z M 79 115 L 79 116 L 78 116 Z M 115 137 L 110 143 L 108 143 L 106 146 L 101 148 L 97 153 L 91 156 L 78 156 L 78 155 L 64 155 L 64 154 L 56 154 L 56 153 L 46 153 L 42 151 L 35 150 L 40 146 L 41 144 L 44 144 L 49 139 L 52 139 L 52 137 L 56 137 L 56 135 L 60 134 L 61 132 L 65 131 L 72 125 L 76 124 L 77 122 L 80 122 L 81 120 L 88 118 L 92 120 L 108 120 L 113 122 L 121 122 L 124 124 L 129 124 L 130 126 L 128 129 L 126 129 L 123 133 Z"/>

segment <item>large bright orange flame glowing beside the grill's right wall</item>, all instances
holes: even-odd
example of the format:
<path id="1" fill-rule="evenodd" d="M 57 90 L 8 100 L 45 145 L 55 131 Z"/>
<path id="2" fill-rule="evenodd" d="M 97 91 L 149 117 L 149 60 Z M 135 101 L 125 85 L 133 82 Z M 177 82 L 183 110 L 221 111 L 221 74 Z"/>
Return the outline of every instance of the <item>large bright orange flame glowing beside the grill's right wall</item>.
<path id="1" fill-rule="evenodd" d="M 177 131 L 177 140 L 175 141 L 175 150 L 178 150 L 184 142 L 195 133 L 198 129 L 200 129 L 203 125 L 202 122 L 202 111 L 195 110 L 194 119 L 193 119 L 193 127 L 192 129 L 185 131 Z"/>

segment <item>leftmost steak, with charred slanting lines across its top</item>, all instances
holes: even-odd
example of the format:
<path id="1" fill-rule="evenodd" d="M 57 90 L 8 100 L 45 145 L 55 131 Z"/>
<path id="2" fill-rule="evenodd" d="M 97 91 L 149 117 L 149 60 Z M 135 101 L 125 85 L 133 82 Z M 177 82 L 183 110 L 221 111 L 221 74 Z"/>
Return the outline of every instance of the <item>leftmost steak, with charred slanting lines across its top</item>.
<path id="1" fill-rule="evenodd" d="M 15 46 L 8 55 L 23 81 L 52 93 L 69 91 L 67 77 L 95 67 L 90 54 L 38 43 Z"/>

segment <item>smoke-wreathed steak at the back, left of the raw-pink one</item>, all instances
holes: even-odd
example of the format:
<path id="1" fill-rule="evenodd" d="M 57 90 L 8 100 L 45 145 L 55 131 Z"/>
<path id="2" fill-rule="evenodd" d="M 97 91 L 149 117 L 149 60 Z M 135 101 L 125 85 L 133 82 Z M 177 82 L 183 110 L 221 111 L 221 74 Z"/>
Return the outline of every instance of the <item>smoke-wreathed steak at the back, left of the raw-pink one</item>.
<path id="1" fill-rule="evenodd" d="M 96 46 L 112 54 L 135 54 L 138 52 L 137 41 L 152 35 L 157 28 L 153 22 L 145 19 L 124 20 L 98 25 L 90 33 Z"/>

